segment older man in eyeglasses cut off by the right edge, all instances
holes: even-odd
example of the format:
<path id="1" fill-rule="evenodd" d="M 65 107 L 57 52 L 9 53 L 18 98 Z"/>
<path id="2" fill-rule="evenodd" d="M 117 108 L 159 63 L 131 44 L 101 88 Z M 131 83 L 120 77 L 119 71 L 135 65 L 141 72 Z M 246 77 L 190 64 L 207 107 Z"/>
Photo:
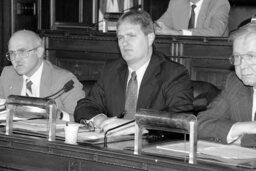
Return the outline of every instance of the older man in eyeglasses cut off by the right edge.
<path id="1" fill-rule="evenodd" d="M 232 36 L 235 67 L 222 93 L 198 115 L 199 137 L 244 147 L 256 146 L 256 24 Z"/>

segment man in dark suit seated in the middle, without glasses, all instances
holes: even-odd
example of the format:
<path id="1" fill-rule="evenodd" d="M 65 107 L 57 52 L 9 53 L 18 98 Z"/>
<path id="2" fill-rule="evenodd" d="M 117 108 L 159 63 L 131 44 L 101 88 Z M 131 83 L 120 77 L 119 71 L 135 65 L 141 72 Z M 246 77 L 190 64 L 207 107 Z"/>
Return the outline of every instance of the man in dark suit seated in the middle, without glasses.
<path id="1" fill-rule="evenodd" d="M 135 110 L 140 108 L 175 113 L 193 109 L 189 74 L 184 66 L 153 50 L 154 26 L 147 12 L 131 11 L 122 15 L 117 23 L 117 38 L 122 58 L 107 63 L 88 97 L 78 102 L 77 122 L 92 119 L 96 126 L 107 130 L 134 119 Z M 129 86 L 134 71 L 136 93 L 129 93 L 128 87 L 134 87 Z M 128 103 L 131 94 L 136 99 Z M 130 111 L 127 106 L 134 104 L 134 111 L 127 112 Z M 120 119 L 122 114 L 125 116 Z"/>

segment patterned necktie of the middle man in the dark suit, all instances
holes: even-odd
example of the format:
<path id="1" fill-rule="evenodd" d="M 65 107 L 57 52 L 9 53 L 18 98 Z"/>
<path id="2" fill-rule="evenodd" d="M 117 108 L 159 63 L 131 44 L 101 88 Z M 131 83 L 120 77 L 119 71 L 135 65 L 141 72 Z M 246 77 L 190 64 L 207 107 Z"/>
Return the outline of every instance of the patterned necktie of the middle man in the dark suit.
<path id="1" fill-rule="evenodd" d="M 137 107 L 138 82 L 136 72 L 133 71 L 126 89 L 125 119 L 134 119 Z"/>

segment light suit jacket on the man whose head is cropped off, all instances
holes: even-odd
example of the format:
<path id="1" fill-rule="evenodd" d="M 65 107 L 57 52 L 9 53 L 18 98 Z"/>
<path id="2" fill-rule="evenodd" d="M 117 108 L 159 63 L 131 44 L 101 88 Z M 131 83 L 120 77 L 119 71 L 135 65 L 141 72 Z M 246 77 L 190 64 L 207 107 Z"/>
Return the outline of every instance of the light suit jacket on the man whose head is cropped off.
<path id="1" fill-rule="evenodd" d="M 195 36 L 228 36 L 230 4 L 228 0 L 204 0 L 196 28 L 189 29 Z M 188 29 L 189 0 L 170 0 L 168 9 L 159 21 L 175 30 Z"/>

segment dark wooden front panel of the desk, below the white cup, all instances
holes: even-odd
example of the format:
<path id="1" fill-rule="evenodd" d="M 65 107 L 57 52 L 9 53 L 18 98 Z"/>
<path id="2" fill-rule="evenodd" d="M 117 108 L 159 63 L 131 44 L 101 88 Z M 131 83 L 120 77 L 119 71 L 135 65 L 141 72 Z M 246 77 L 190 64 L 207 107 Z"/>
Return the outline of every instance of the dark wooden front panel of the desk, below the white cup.
<path id="1" fill-rule="evenodd" d="M 90 145 L 68 145 L 63 141 L 0 133 L 0 170 L 25 171 L 178 171 L 246 170 L 239 167 L 198 162 L 196 165 L 175 158 L 133 155 L 131 151 L 104 149 Z"/>

